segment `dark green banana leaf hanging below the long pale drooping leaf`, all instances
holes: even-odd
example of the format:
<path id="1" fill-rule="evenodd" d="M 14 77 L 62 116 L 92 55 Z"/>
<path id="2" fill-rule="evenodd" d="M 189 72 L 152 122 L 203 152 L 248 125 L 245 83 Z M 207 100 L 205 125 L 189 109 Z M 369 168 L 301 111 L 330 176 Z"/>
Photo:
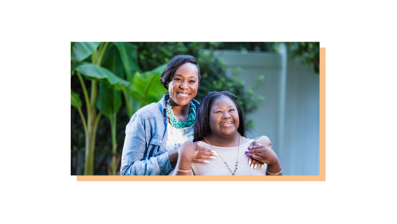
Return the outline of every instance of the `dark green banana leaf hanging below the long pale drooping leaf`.
<path id="1" fill-rule="evenodd" d="M 121 91 L 116 90 L 106 82 L 99 82 L 96 106 L 102 111 L 103 115 L 112 119 L 112 115 L 117 114 L 121 104 Z"/>

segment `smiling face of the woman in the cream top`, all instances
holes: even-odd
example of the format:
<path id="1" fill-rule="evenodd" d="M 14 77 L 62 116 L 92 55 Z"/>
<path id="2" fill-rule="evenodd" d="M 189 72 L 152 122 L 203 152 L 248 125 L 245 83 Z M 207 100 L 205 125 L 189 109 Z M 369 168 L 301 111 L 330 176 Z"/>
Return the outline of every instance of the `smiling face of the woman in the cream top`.
<path id="1" fill-rule="evenodd" d="M 222 96 L 216 99 L 210 109 L 210 132 L 212 135 L 233 135 L 239 128 L 239 113 L 233 101 Z"/>

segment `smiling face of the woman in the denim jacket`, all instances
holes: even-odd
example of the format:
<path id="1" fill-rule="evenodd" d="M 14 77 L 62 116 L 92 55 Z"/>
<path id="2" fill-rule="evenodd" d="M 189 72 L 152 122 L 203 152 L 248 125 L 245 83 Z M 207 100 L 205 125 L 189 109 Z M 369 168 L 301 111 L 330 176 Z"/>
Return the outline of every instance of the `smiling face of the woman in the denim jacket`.
<path id="1" fill-rule="evenodd" d="M 189 62 L 176 69 L 174 77 L 168 83 L 169 97 L 180 106 L 190 103 L 197 94 L 197 88 L 198 69 Z"/>

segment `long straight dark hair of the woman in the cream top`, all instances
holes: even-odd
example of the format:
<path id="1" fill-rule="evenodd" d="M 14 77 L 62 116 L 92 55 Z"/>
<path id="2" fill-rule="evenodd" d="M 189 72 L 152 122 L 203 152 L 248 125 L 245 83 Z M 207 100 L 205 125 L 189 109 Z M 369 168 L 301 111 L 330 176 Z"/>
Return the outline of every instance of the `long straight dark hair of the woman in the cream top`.
<path id="1" fill-rule="evenodd" d="M 194 123 L 193 142 L 202 140 L 210 133 L 210 110 L 215 100 L 222 96 L 230 98 L 235 104 L 237 112 L 239 113 L 239 127 L 237 128 L 237 131 L 240 133 L 240 135 L 246 137 L 244 113 L 239 101 L 237 100 L 237 96 L 228 91 L 209 92 L 204 96 L 200 106 L 198 106 L 197 109 L 197 119 Z"/>

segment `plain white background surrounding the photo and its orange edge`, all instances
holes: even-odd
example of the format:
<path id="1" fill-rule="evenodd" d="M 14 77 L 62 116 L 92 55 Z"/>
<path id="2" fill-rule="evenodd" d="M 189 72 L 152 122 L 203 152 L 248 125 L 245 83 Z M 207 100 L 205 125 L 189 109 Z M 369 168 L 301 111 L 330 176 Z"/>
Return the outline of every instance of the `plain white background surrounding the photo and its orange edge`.
<path id="1" fill-rule="evenodd" d="M 2 222 L 395 223 L 395 7 L 275 2 L 2 2 Z M 320 41 L 326 181 L 76 182 L 70 41 Z"/>

